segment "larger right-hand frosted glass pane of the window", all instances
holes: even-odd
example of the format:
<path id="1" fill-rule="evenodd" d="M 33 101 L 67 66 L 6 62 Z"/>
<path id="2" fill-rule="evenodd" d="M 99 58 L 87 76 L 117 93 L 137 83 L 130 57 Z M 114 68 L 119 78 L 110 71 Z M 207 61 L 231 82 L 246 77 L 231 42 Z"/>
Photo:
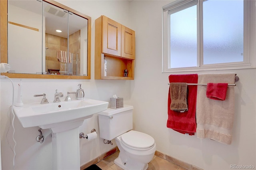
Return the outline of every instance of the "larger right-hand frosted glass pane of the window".
<path id="1" fill-rule="evenodd" d="M 243 61 L 243 0 L 203 2 L 203 63 Z"/>

